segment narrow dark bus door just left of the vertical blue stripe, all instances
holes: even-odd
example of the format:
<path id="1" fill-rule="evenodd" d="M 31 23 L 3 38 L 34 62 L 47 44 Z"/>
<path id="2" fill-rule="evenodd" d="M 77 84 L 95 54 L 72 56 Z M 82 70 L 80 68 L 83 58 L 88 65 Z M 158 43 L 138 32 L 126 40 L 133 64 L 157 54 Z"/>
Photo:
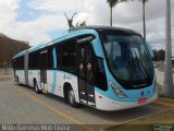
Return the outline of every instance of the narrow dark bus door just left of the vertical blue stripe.
<path id="1" fill-rule="evenodd" d="M 48 50 L 40 51 L 40 87 L 44 92 L 47 92 L 47 59 Z"/>

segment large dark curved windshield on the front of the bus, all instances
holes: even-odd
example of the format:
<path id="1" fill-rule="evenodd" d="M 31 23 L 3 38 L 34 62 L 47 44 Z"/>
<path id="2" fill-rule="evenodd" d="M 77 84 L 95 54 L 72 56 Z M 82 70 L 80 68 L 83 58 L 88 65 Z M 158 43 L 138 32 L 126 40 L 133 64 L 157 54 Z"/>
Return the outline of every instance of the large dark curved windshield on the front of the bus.
<path id="1" fill-rule="evenodd" d="M 128 90 L 151 85 L 153 66 L 139 35 L 102 34 L 108 64 L 117 82 Z"/>

